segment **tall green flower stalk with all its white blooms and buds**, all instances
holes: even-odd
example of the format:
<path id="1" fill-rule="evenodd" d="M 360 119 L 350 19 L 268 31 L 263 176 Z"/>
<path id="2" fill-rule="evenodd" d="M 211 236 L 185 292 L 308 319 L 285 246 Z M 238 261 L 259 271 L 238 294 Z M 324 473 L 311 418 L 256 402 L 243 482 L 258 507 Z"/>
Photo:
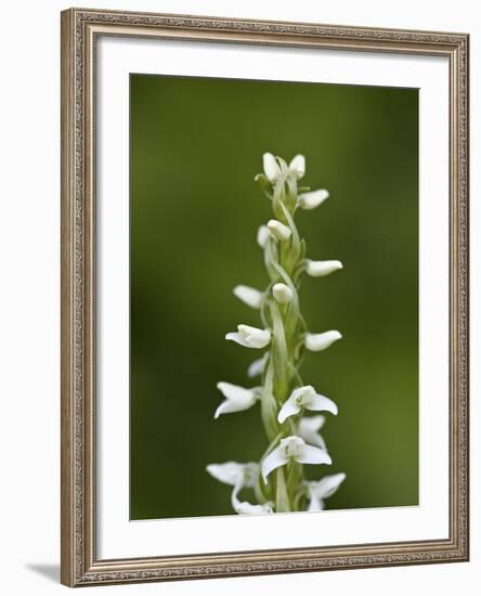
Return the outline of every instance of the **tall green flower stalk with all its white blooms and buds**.
<path id="1" fill-rule="evenodd" d="M 328 193 L 299 186 L 306 172 L 304 157 L 296 155 L 287 165 L 281 157 L 266 153 L 263 168 L 264 172 L 256 180 L 271 200 L 272 218 L 259 229 L 257 242 L 263 250 L 269 284 L 264 291 L 243 285 L 234 288 L 237 298 L 259 309 L 262 328 L 242 324 L 237 332 L 225 336 L 245 348 L 266 350 L 248 368 L 248 376 L 260 376 L 261 384 L 246 389 L 219 383 L 218 388 L 225 399 L 214 417 L 248 410 L 260 401 L 269 445 L 258 464 L 210 464 L 207 471 L 233 487 L 231 503 L 238 514 L 318 511 L 324 508 L 324 498 L 338 489 L 346 475 L 306 480 L 306 465 L 332 464 L 325 441 L 318 433 L 325 417 L 311 413 L 337 415 L 338 409 L 329 398 L 304 384 L 300 365 L 306 349 L 325 350 L 342 336 L 338 331 L 308 332 L 300 311 L 299 287 L 303 273 L 324 277 L 342 269 L 342 263 L 306 258 L 306 241 L 296 226 L 296 211 L 298 208 L 314 209 Z M 245 489 L 253 491 L 257 504 L 239 500 Z"/>

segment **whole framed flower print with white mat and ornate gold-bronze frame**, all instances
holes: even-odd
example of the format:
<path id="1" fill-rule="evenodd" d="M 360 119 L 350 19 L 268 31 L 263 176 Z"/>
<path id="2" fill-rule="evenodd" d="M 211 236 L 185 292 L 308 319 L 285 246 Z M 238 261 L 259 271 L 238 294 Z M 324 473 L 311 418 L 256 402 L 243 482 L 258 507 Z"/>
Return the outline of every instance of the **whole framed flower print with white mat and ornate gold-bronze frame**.
<path id="1" fill-rule="evenodd" d="M 62 582 L 468 558 L 468 36 L 62 13 Z"/>

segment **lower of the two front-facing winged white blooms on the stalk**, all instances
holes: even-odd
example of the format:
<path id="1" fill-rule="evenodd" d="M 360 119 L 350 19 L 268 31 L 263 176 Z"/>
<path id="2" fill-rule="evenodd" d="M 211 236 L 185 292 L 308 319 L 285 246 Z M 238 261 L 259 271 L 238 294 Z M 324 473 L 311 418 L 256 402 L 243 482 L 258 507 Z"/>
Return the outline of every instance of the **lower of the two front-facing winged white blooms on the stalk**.
<path id="1" fill-rule="evenodd" d="M 287 437 L 281 439 L 278 446 L 263 459 L 261 472 L 264 482 L 268 482 L 268 476 L 271 471 L 285 466 L 292 458 L 299 464 L 332 464 L 329 454 L 324 449 L 320 449 L 308 443 L 300 437 Z"/>

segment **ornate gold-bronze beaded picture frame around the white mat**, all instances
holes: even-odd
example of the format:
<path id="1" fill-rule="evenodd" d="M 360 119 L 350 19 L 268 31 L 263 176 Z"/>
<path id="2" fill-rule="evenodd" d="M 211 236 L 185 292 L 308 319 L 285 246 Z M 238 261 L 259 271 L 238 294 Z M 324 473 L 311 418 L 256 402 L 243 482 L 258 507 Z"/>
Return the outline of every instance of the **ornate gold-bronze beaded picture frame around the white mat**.
<path id="1" fill-rule="evenodd" d="M 95 553 L 94 47 L 102 35 L 441 55 L 450 62 L 450 536 L 101 560 Z M 68 586 L 466 561 L 469 36 L 172 14 L 62 12 L 62 583 Z"/>

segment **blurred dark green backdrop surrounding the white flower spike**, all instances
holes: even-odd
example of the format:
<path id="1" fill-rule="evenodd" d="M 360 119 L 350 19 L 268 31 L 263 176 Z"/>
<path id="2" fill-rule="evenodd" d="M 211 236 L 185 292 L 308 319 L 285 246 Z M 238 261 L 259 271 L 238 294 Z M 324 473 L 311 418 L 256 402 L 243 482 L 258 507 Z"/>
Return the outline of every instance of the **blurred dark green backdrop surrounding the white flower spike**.
<path id="1" fill-rule="evenodd" d="M 218 380 L 251 386 L 259 352 L 224 340 L 259 324 L 238 283 L 263 288 L 256 244 L 270 203 L 253 176 L 270 151 L 307 157 L 328 189 L 297 215 L 313 259 L 310 329 L 343 339 L 302 376 L 335 400 L 323 436 L 346 471 L 328 508 L 418 503 L 418 93 L 415 89 L 131 75 L 131 519 L 232 514 L 205 467 L 258 461 L 259 410 L 222 416 Z"/>

